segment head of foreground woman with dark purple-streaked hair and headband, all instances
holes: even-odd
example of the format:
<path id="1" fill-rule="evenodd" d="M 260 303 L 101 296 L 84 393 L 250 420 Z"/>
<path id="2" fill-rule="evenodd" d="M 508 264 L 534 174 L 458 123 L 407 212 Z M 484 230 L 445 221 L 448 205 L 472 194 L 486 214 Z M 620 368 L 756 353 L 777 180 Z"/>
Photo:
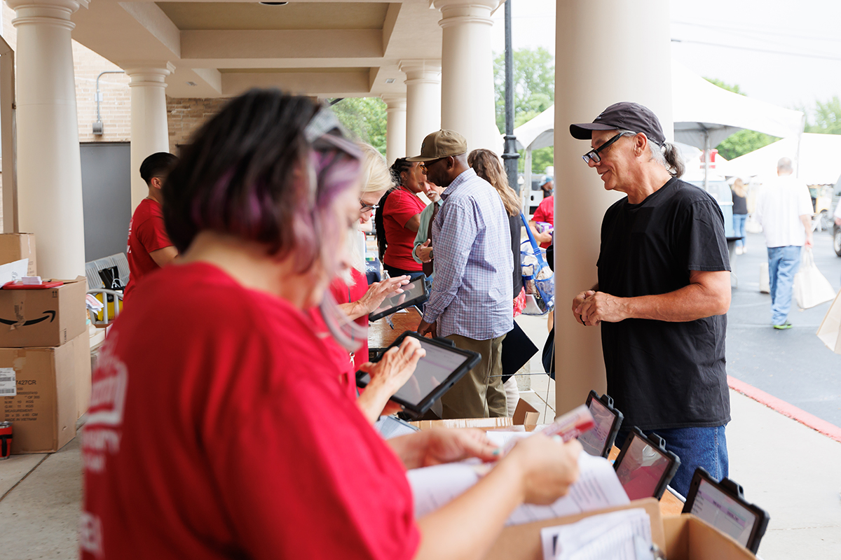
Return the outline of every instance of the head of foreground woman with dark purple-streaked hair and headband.
<path id="1" fill-rule="evenodd" d="M 341 137 L 335 117 L 308 97 L 251 90 L 200 128 L 167 176 L 163 216 L 185 252 L 210 230 L 263 243 L 298 271 L 335 247 L 333 203 L 357 185 L 359 149 Z"/>

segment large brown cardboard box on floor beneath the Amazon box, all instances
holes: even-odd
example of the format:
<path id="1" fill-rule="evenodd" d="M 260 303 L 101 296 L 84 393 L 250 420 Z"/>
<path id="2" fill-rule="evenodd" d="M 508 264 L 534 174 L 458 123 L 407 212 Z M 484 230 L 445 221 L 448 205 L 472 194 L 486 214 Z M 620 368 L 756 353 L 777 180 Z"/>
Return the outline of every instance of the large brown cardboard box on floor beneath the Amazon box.
<path id="1" fill-rule="evenodd" d="M 0 410 L 0 421 L 12 422 L 12 453 L 58 451 L 76 436 L 76 384 L 90 375 L 87 348 L 87 332 L 55 348 L 0 348 L 0 376 L 13 374 L 17 389 Z"/>

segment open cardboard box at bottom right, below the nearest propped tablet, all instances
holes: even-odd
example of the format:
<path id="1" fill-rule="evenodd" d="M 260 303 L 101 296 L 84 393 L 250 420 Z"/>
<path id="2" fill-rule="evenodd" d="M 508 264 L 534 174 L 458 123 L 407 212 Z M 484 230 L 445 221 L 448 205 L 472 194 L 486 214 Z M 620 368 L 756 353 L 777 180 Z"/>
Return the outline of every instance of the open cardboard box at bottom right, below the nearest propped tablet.
<path id="1" fill-rule="evenodd" d="M 663 520 L 669 560 L 755 560 L 732 536 L 689 513 Z"/>

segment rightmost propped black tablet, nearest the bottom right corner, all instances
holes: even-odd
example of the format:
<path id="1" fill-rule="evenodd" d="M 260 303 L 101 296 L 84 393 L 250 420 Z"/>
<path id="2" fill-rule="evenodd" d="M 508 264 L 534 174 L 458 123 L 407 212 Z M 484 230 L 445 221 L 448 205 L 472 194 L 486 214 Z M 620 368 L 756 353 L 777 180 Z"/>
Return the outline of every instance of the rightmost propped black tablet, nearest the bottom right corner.
<path id="1" fill-rule="evenodd" d="M 683 513 L 700 517 L 754 554 L 770 521 L 768 512 L 744 500 L 741 486 L 731 479 L 716 482 L 701 467 L 692 475 Z"/>

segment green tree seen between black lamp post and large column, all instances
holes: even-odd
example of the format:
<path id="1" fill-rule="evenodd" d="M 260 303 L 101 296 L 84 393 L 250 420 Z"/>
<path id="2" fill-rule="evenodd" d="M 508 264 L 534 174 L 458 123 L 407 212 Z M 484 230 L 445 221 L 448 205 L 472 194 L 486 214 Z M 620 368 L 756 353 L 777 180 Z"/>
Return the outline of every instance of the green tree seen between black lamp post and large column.
<path id="1" fill-rule="evenodd" d="M 505 55 L 494 60 L 494 90 L 496 126 L 505 132 Z M 514 126 L 518 127 L 537 117 L 555 102 L 555 64 L 552 53 L 543 47 L 514 51 Z M 519 169 L 525 167 L 525 152 L 520 151 Z M 532 152 L 532 170 L 542 173 L 553 165 L 554 150 L 536 149 Z"/>

